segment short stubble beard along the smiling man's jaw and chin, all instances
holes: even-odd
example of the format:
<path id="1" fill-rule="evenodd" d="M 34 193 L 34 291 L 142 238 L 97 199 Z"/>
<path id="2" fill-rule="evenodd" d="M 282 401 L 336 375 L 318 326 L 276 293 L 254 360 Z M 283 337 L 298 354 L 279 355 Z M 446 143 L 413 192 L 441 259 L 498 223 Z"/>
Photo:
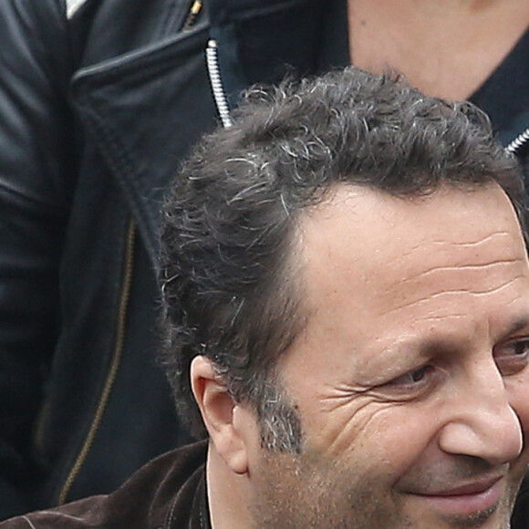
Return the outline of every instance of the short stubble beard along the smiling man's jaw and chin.
<path id="1" fill-rule="evenodd" d="M 252 529 L 509 529 L 512 499 L 471 516 L 418 522 L 402 513 L 399 498 L 382 489 L 384 476 L 358 480 L 359 469 L 340 468 L 321 457 L 265 452 L 250 505 Z M 365 473 L 363 474 L 365 476 Z"/>

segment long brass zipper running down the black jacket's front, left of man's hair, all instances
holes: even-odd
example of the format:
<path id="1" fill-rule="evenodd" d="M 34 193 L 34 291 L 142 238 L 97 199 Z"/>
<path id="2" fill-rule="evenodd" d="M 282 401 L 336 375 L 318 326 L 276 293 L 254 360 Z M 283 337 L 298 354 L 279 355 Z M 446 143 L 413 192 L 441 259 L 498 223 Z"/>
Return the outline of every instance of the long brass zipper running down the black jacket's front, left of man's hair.
<path id="1" fill-rule="evenodd" d="M 130 298 L 130 286 L 132 285 L 132 269 L 134 265 L 134 241 L 136 238 L 136 224 L 134 221 L 130 221 L 129 232 L 127 233 L 127 242 L 125 247 L 125 263 L 124 263 L 124 274 L 123 274 L 123 286 L 121 288 L 121 296 L 119 299 L 119 315 L 118 324 L 116 327 L 116 342 L 114 345 L 114 351 L 110 363 L 109 372 L 107 379 L 103 386 L 103 390 L 99 397 L 98 407 L 93 416 L 92 423 L 88 430 L 88 434 L 85 438 L 83 446 L 78 453 L 78 457 L 74 462 L 70 472 L 67 475 L 67 479 L 64 482 L 62 489 L 58 495 L 58 504 L 61 505 L 67 502 L 67 495 L 70 492 L 73 483 L 78 477 L 78 473 L 85 464 L 88 452 L 92 448 L 96 433 L 99 430 L 103 414 L 107 408 L 109 402 L 110 392 L 114 386 L 114 382 L 118 375 L 119 364 L 123 353 L 123 344 L 125 341 L 125 324 L 127 319 L 127 308 L 129 306 Z"/>

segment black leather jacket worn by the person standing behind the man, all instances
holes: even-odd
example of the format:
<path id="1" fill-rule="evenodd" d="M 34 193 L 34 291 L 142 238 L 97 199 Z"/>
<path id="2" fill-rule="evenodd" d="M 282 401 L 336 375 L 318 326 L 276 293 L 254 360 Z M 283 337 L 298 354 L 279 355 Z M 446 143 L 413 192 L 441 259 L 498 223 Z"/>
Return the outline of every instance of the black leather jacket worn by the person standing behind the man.
<path id="1" fill-rule="evenodd" d="M 285 65 L 346 64 L 345 9 L 0 2 L 0 518 L 108 492 L 183 440 L 154 361 L 157 226 L 223 107 L 205 49 L 217 42 L 210 73 L 233 105 Z M 507 142 L 529 127 L 514 114 Z"/>

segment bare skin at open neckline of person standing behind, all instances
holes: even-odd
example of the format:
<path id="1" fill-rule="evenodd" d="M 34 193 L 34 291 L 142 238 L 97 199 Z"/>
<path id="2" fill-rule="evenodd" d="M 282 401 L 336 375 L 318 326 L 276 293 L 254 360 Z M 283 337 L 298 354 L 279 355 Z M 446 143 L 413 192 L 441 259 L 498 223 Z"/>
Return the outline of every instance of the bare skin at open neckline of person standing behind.
<path id="1" fill-rule="evenodd" d="M 351 62 L 468 99 L 529 26 L 526 0 L 347 0 Z"/>

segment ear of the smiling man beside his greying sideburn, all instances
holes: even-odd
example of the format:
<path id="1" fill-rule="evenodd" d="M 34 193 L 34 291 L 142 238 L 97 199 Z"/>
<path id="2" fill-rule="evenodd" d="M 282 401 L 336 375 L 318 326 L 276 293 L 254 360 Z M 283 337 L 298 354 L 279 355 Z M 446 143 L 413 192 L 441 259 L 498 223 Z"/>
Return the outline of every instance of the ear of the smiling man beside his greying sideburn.
<path id="1" fill-rule="evenodd" d="M 191 383 L 214 449 L 233 472 L 248 472 L 248 413 L 228 393 L 209 358 L 192 359 Z"/>

